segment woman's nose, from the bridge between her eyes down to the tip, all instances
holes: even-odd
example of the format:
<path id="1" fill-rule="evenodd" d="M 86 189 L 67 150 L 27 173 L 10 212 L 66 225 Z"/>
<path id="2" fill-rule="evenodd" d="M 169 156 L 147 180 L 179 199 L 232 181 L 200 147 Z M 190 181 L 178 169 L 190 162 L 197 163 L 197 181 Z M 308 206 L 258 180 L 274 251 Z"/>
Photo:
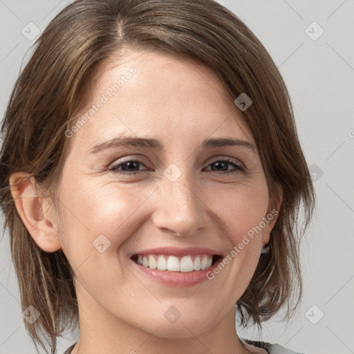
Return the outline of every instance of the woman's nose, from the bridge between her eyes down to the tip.
<path id="1" fill-rule="evenodd" d="M 188 165 L 185 161 L 184 166 Z M 187 236 L 203 226 L 203 203 L 196 194 L 196 180 L 190 172 L 171 164 L 163 171 L 160 203 L 155 210 L 156 227 Z"/>

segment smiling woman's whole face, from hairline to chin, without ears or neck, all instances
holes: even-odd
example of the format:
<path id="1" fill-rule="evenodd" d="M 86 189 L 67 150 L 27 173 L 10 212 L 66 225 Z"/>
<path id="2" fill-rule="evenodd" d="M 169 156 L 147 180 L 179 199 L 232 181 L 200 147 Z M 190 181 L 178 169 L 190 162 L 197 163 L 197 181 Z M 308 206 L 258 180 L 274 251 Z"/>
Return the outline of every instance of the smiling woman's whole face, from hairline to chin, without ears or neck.
<path id="1" fill-rule="evenodd" d="M 160 337 L 210 330 L 270 232 L 250 236 L 270 213 L 250 129 L 209 68 L 158 52 L 104 66 L 86 103 L 58 189 L 80 306 Z"/>

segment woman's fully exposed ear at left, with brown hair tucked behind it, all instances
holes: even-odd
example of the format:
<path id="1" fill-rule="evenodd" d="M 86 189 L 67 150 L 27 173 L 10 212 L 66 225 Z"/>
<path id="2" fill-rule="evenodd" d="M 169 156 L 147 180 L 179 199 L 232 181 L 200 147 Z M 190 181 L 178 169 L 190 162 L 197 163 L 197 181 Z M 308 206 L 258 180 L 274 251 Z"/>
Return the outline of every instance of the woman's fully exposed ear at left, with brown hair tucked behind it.
<path id="1" fill-rule="evenodd" d="M 10 189 L 17 212 L 38 247 L 46 252 L 62 248 L 48 213 L 50 198 L 39 193 L 35 178 L 25 172 L 16 172 L 10 176 Z"/>

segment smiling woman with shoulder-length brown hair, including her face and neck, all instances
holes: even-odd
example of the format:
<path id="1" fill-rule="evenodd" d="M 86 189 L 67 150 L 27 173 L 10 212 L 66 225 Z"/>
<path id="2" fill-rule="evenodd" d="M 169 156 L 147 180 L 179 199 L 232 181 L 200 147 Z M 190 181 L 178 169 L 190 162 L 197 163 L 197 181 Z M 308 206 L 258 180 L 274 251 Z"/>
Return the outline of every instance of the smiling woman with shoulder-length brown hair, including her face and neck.
<path id="1" fill-rule="evenodd" d="M 2 133 L 36 346 L 56 353 L 79 324 L 66 353 L 295 353 L 235 328 L 236 310 L 261 327 L 297 307 L 315 197 L 286 86 L 232 12 L 75 1 L 37 41 Z"/>

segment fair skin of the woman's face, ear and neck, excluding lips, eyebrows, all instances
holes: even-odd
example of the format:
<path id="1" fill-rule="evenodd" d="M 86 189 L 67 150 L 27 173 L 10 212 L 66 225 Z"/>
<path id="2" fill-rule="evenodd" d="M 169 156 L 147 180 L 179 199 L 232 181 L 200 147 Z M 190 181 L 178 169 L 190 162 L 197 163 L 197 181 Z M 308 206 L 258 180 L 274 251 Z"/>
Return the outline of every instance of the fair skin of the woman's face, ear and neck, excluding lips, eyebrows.
<path id="1" fill-rule="evenodd" d="M 80 342 L 73 354 L 250 353 L 236 333 L 234 304 L 254 274 L 276 217 L 212 280 L 174 288 L 140 273 L 127 256 L 160 246 L 207 247 L 226 255 L 274 206 L 257 150 L 243 146 L 204 149 L 206 138 L 252 142 L 241 112 L 216 74 L 185 57 L 127 50 L 124 62 L 107 62 L 90 87 L 84 115 L 131 67 L 137 72 L 70 138 L 58 186 L 61 223 L 50 198 L 36 198 L 26 174 L 10 178 L 17 210 L 39 247 L 62 248 L 75 271 Z M 165 149 L 95 145 L 121 135 L 156 138 Z M 246 171 L 223 175 L 214 162 L 232 160 Z M 138 174 L 113 165 L 138 159 Z M 174 182 L 163 172 L 175 164 Z M 212 167 L 214 166 L 214 171 Z M 220 166 L 220 165 L 219 165 Z M 176 172 L 174 172 L 176 173 Z M 279 207 L 279 205 L 277 205 Z M 276 208 L 277 209 L 277 208 Z M 60 229 L 60 230 L 59 230 Z M 111 245 L 93 247 L 104 234 Z M 178 234 L 182 236 L 178 236 Z M 171 324 L 165 311 L 175 306 Z"/>

